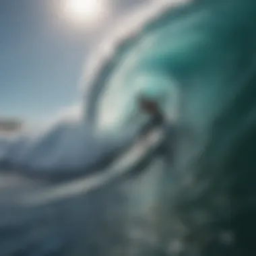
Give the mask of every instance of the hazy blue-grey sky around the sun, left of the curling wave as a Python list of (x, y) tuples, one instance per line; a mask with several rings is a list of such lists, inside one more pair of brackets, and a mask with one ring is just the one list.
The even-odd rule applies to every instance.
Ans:
[(86, 57), (121, 15), (147, 0), (105, 0), (109, 15), (90, 26), (63, 15), (61, 1), (0, 1), (0, 118), (42, 123), (81, 101)]

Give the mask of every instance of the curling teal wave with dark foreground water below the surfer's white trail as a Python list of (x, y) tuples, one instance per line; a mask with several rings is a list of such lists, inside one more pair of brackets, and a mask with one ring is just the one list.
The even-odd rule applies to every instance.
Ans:
[(256, 3), (167, 2), (90, 63), (85, 115), (119, 135), (153, 97), (164, 150), (108, 182), (1, 185), (1, 255), (255, 255)]

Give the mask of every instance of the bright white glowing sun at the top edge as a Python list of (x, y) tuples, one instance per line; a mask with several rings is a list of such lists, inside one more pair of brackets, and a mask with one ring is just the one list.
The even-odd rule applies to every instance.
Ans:
[(65, 19), (77, 24), (95, 24), (106, 16), (104, 0), (64, 0)]

